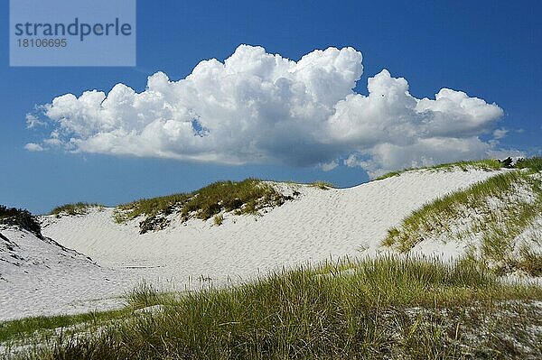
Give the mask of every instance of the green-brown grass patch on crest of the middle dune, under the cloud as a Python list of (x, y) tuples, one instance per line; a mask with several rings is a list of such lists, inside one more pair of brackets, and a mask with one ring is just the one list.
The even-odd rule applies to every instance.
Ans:
[(182, 221), (192, 217), (207, 220), (221, 212), (256, 214), (261, 208), (282, 205), (285, 199), (273, 186), (261, 180), (219, 181), (188, 194), (145, 198), (121, 205), (115, 211), (115, 220), (123, 223), (145, 216), (144, 223), (148, 224), (175, 212), (180, 213)]

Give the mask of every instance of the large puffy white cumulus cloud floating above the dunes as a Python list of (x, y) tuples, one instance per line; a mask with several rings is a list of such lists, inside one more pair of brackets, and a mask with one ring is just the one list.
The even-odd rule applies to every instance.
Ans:
[(369, 78), (362, 95), (353, 90), (362, 71), (353, 48), (317, 50), (294, 61), (241, 45), (223, 62), (203, 60), (177, 81), (157, 72), (139, 93), (117, 84), (107, 94), (55, 97), (38, 106), (53, 129), (43, 145), (324, 170), (346, 158), (373, 174), (495, 150), (478, 136), (491, 134), (503, 114), (499, 106), (448, 88), (419, 99), (405, 78), (386, 69)]

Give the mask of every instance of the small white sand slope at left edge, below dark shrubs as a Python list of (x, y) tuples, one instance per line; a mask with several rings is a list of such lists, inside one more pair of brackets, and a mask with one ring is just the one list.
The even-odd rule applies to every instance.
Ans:
[(111, 299), (125, 286), (115, 276), (51, 239), (0, 229), (0, 320), (121, 306)]

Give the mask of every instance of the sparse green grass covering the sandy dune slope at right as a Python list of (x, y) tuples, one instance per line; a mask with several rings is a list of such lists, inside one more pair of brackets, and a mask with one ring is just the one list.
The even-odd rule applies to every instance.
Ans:
[[(519, 191), (528, 190), (533, 198), (521, 198)], [(490, 205), (490, 203), (499, 205)], [(468, 226), (457, 232), (453, 224), (469, 215)], [(383, 245), (408, 252), (425, 239), (443, 234), (464, 241), (469, 236), (481, 238), (480, 258), (485, 266), (498, 272), (518, 269), (535, 274), (542, 263), (540, 257), (514, 254), (515, 239), (536, 217), (542, 215), (542, 186), (540, 180), (526, 172), (510, 171), (437, 198), (406, 217), (400, 226), (388, 230)], [(459, 226), (459, 225), (458, 225)], [(523, 252), (523, 254), (527, 254)], [(521, 265), (526, 263), (526, 265)], [(529, 265), (527, 265), (529, 264)]]

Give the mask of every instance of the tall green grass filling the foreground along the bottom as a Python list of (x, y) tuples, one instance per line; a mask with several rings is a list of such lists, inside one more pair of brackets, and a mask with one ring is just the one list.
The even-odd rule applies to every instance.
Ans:
[[(325, 271), (322, 271), (325, 269)], [(92, 334), (51, 337), (14, 358), (540, 358), (542, 289), (469, 263), (380, 258), (326, 264), (162, 303)]]

